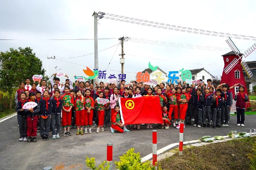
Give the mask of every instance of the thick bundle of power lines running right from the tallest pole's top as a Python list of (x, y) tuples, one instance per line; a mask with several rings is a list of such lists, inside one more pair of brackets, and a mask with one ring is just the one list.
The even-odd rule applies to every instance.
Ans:
[(175, 25), (170, 25), (170, 24), (147, 21), (147, 20), (143, 20), (143, 19), (124, 17), (124, 16), (109, 14), (109, 13), (105, 13), (105, 15), (106, 16), (103, 16), (103, 18), (122, 21), (122, 22), (128, 22), (128, 23), (132, 23), (132, 24), (144, 25), (144, 26), (152, 26), (152, 27), (157, 27), (157, 28), (164, 28), (164, 29), (170, 29), (170, 30), (175, 30), (175, 31), (196, 33), (196, 34), (203, 34), (203, 35), (230, 37), (230, 38), (244, 39), (244, 40), (256, 40), (256, 37), (253, 37), (253, 36), (221, 33), (221, 32), (207, 31), (207, 30), (189, 28), (189, 27), (183, 27), (183, 26), (175, 26)]

